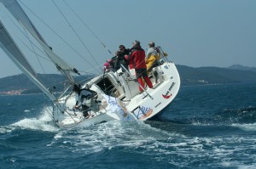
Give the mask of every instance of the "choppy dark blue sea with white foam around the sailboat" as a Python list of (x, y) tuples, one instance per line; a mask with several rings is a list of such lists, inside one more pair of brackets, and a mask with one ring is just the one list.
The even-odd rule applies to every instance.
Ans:
[(0, 168), (256, 168), (256, 84), (181, 87), (151, 121), (61, 130), (44, 95), (0, 96)]

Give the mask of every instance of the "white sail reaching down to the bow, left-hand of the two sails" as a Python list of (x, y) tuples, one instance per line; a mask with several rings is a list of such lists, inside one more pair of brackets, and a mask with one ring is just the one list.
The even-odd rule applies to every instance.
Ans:
[(0, 47), (3, 51), (13, 60), (20, 70), (44, 92), (50, 100), (54, 101), (55, 96), (49, 93), (49, 90), (44, 87), (42, 82), (38, 81), (37, 73), (32, 69), (32, 66), (26, 60), (25, 56), (21, 53), (20, 48), (16, 45), (9, 32), (5, 29), (2, 21), (0, 20)]

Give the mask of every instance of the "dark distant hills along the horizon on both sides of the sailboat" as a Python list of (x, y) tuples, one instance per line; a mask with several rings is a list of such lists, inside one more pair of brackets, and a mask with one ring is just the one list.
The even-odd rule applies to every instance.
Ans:
[[(207, 85), (224, 83), (250, 83), (256, 82), (256, 68), (242, 65), (232, 65), (228, 68), (199, 67), (193, 68), (186, 65), (177, 65), (177, 70), (181, 77), (181, 85)], [(40, 79), (47, 87), (59, 84), (58, 89), (63, 88), (64, 79), (56, 74), (39, 74)], [(28, 78), (23, 75), (7, 76), (0, 78), (0, 94), (19, 93), (40, 93)]]

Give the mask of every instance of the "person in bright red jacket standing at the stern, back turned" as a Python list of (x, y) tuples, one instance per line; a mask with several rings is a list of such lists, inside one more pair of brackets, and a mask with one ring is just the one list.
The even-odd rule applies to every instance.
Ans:
[[(137, 76), (137, 82), (139, 82), (139, 90), (143, 92), (145, 87), (144, 81), (147, 83), (149, 88), (152, 88), (152, 82), (150, 81), (147, 74), (147, 65), (145, 62), (145, 51), (141, 48), (141, 43), (135, 41), (132, 43), (131, 54), (128, 56), (130, 69), (134, 68)], [(142, 88), (143, 87), (143, 88)]]

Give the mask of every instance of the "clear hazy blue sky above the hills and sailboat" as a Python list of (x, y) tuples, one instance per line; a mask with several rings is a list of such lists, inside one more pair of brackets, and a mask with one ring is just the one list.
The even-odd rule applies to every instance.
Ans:
[[(255, 0), (65, 0), (93, 33), (77, 24), (78, 18), (62, 0), (18, 2), (55, 53), (78, 70), (90, 69), (88, 62), (101, 66), (112, 57), (106, 48), (114, 54), (120, 44), (131, 48), (135, 40), (145, 50), (148, 42), (154, 41), (177, 65), (256, 67)], [(8, 20), (4, 14), (1, 10), (1, 18)], [(38, 18), (77, 48), (83, 58), (75, 56)], [(0, 57), (0, 78), (21, 73), (2, 49)], [(31, 62), (40, 67), (38, 59)], [(38, 72), (55, 73), (55, 69)]]

